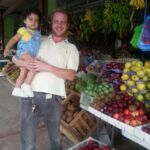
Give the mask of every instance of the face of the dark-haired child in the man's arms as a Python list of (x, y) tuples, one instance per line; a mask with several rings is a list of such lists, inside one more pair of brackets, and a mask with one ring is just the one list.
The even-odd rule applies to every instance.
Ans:
[(27, 18), (24, 20), (24, 23), (27, 28), (35, 30), (39, 26), (39, 17), (38, 15), (31, 13), (31, 15), (27, 16)]

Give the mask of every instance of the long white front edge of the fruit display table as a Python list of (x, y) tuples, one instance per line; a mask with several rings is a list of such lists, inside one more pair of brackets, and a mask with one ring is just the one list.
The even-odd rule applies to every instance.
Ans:
[(95, 115), (96, 117), (102, 119), (103, 121), (120, 129), (123, 136), (127, 137), (128, 139), (131, 139), (132, 141), (150, 150), (150, 134), (147, 134), (144, 131), (142, 131), (139, 126), (138, 127), (129, 126), (108, 115), (105, 115), (104, 113), (92, 108), (91, 106), (87, 105), (85, 106), (82, 103), (80, 104), (80, 107), (90, 112), (91, 114)]

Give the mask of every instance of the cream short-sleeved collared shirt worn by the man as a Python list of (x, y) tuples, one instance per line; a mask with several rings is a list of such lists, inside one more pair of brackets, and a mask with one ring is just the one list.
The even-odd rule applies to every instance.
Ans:
[[(77, 71), (79, 65), (79, 52), (74, 44), (64, 40), (55, 43), (51, 35), (41, 43), (38, 56), (48, 64), (62, 69)], [(50, 73), (39, 72), (32, 81), (35, 92), (44, 92), (66, 97), (65, 80)]]

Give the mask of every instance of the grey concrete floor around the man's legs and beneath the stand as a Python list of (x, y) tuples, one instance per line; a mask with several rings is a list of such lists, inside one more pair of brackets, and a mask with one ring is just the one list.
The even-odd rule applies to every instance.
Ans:
[[(0, 150), (19, 150), (19, 99), (11, 96), (13, 85), (0, 77)], [(63, 150), (73, 143), (63, 135)], [(114, 146), (117, 150), (146, 150), (124, 138), (116, 131)], [(47, 130), (40, 125), (37, 133), (37, 150), (49, 150)]]

